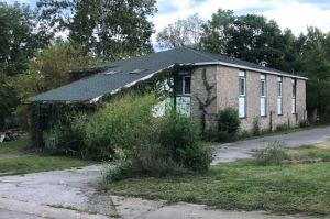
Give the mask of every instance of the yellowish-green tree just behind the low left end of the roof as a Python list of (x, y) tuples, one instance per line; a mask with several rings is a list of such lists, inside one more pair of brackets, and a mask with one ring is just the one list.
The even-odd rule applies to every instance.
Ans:
[(68, 70), (94, 65), (95, 58), (85, 55), (77, 44), (62, 42), (40, 51), (29, 63), (25, 74), (11, 77), (21, 100), (59, 87), (69, 81)]

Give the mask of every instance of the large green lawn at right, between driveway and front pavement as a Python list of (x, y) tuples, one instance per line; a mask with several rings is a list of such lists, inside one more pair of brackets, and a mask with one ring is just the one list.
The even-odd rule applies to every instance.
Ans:
[[(330, 156), (330, 147), (304, 147), (289, 153), (295, 153), (296, 158), (315, 158)], [(222, 209), (330, 216), (330, 162), (261, 166), (248, 160), (219, 164), (201, 175), (125, 179), (107, 189), (116, 195)]]

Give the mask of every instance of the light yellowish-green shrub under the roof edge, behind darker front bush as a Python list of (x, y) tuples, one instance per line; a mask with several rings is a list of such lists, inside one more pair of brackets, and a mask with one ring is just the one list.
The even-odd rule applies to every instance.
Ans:
[(156, 103), (154, 95), (124, 97), (107, 103), (105, 109), (90, 118), (86, 128), (86, 142), (89, 147), (98, 149), (101, 154), (121, 147), (130, 151), (141, 142), (136, 134), (141, 125), (152, 122), (152, 109)]

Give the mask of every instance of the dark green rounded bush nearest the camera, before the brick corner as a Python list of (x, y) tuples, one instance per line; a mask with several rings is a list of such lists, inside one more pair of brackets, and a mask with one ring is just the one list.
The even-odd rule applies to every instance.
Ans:
[[(141, 124), (135, 134), (141, 141), (127, 157), (134, 166), (130, 177), (135, 176), (136, 169), (139, 175), (166, 176), (209, 168), (211, 155), (200, 144), (199, 129), (190, 118), (170, 112)], [(106, 176), (108, 183), (116, 180), (118, 173), (130, 172), (121, 163), (111, 169)]]

